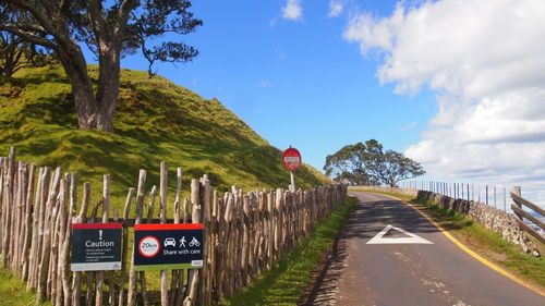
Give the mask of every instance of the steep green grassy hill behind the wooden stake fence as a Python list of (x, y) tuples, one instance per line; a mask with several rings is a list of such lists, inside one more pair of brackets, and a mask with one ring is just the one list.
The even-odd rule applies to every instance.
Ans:
[[(94, 81), (97, 66), (89, 66)], [(22, 70), (0, 84), (0, 156), (17, 147), (20, 160), (78, 172), (81, 182), (101, 189), (111, 174), (112, 199), (136, 186), (140, 169), (148, 170), (148, 186), (157, 184), (159, 162), (169, 162), (169, 187), (182, 167), (184, 188), (207, 173), (213, 186), (244, 189), (287, 187), (289, 173), (281, 151), (271, 147), (217, 99), (145, 72), (122, 70), (116, 133), (80, 131), (71, 87), (60, 66)], [(310, 166), (295, 172), (298, 186), (330, 181)]]

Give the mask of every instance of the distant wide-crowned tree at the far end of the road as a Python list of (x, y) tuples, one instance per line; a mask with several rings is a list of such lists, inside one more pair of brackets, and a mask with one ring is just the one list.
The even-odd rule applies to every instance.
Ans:
[(425, 173), (420, 163), (400, 152), (384, 151), (383, 145), (375, 139), (348, 145), (328, 155), (324, 170), (334, 180), (348, 181), (352, 185), (383, 183), (390, 187), (401, 180)]

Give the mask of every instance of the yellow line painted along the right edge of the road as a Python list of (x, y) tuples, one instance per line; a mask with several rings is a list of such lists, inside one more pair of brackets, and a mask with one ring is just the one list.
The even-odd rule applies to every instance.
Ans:
[(488, 268), (493, 269), (494, 271), (500, 273), (500, 274), (504, 274), (505, 277), (507, 277), (508, 279), (517, 282), (518, 284), (520, 285), (523, 285), (530, 290), (532, 290), (533, 292), (537, 293), (537, 294), (541, 294), (542, 296), (545, 296), (545, 291), (543, 291), (541, 287), (532, 284), (532, 283), (529, 283), (524, 280), (521, 280), (520, 278), (509, 273), (508, 271), (501, 269), (500, 267), (496, 266), (495, 264), (488, 261), (487, 259), (485, 259), (484, 257), (482, 257), (481, 255), (476, 254), (475, 252), (471, 250), (469, 247), (467, 247), (465, 245), (463, 245), (461, 242), (459, 242), (456, 237), (453, 237), (447, 230), (445, 230), (439, 223), (435, 222), (429, 216), (427, 216), (427, 213), (425, 213), (424, 211), (420, 210), (419, 208), (416, 208), (415, 206), (413, 206), (412, 204), (405, 201), (405, 200), (402, 200), (402, 199), (399, 199), (397, 197), (392, 197), (392, 198), (396, 198), (404, 204), (407, 204), (409, 207), (411, 207), (412, 209), (416, 210), (422, 217), (426, 218), (427, 221), (429, 221), (432, 224), (434, 224), (447, 238), (449, 238), (451, 242), (453, 242), (459, 248), (461, 248), (463, 252), (468, 253), (469, 255), (471, 255), (473, 258), (475, 258), (476, 260), (481, 261), (482, 264), (484, 264), (485, 266), (487, 266)]

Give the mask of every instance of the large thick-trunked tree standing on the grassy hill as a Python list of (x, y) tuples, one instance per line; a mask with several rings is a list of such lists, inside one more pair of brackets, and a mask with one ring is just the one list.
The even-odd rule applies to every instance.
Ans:
[[(185, 62), (198, 53), (181, 41), (153, 44), (202, 25), (190, 7), (184, 0), (0, 0), (0, 30), (51, 50), (72, 85), (78, 127), (111, 132), (124, 54), (141, 50), (153, 74), (155, 61)], [(7, 17), (19, 12), (23, 17)], [(82, 42), (98, 60), (96, 89)]]

